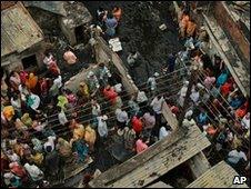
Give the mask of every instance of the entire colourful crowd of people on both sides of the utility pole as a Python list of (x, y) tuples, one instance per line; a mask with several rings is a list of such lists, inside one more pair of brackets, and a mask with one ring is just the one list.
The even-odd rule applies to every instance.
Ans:
[[(121, 9), (114, 8), (110, 13), (100, 8), (97, 14), (101, 30), (114, 36)], [(199, 68), (183, 126), (198, 125), (228, 163), (248, 173), (249, 100), (241, 94), (221, 58), (208, 53), (209, 38), (205, 31), (198, 30), (188, 11), (182, 14), (180, 30), (187, 39), (184, 50), (167, 57), (167, 74), (175, 70), (179, 61)], [(135, 54), (128, 61), (134, 61)], [(63, 59), (69, 64), (77, 61), (70, 50)], [(179, 117), (189, 84), (184, 81), (178, 100), (170, 100), (158, 92), (160, 74), (155, 72), (145, 81), (145, 89), (127, 93), (121, 80), (101, 62), (73, 92), (66, 87), (50, 51), (44, 52), (43, 62), (49, 77), (24, 70), (1, 74), (2, 187), (46, 187), (52, 178), (63, 182), (67, 165), (87, 163), (97, 141), (107, 143), (113, 135), (123, 139), (124, 149), (141, 153), (172, 133), (162, 119), (162, 106), (167, 102)]]

